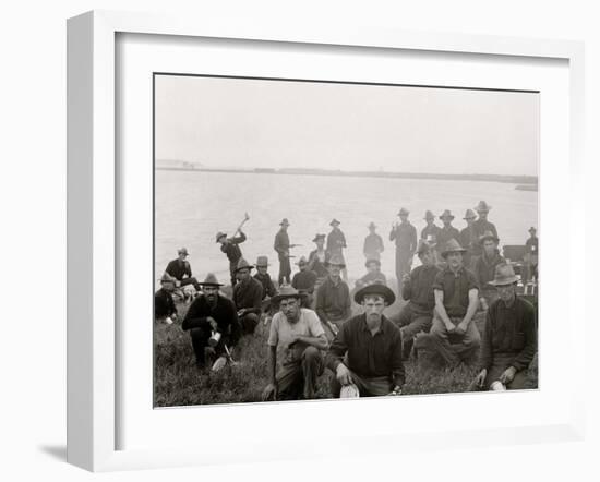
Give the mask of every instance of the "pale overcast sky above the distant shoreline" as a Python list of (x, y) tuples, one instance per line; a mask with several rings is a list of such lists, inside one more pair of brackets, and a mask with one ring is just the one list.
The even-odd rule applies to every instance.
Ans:
[(538, 94), (171, 75), (155, 92), (157, 160), (538, 173)]

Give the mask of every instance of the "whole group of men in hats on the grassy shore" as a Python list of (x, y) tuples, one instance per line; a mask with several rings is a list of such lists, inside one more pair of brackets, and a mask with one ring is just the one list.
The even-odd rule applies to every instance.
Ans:
[[(215, 275), (203, 282), (193, 278), (185, 261), (189, 253), (180, 250), (161, 278), (156, 315), (177, 316), (168, 299), (183, 282), (201, 290), (181, 325), (190, 330), (201, 367), (207, 353), (213, 360), (230, 359), (240, 336), (253, 334), (265, 316), (265, 323), (271, 321), (271, 383), (265, 399), (317, 396), (316, 379), (326, 367), (334, 374), (334, 397), (400, 394), (404, 362), (421, 350), (436, 354), (451, 367), (478, 361), (481, 371), (471, 389), (523, 388), (537, 357), (536, 311), (516, 293), (518, 277), (500, 255), (496, 228), (488, 220), (490, 208), (481, 201), (475, 207), (479, 217), (467, 209), (463, 231), (452, 226), (449, 210), (440, 216), (443, 227), (434, 224), (428, 210), (420, 240), (408, 221), (409, 212), (399, 210), (400, 222), (393, 225), (389, 240), (396, 244), (397, 286), (407, 303), (389, 317), (383, 311), (396, 297), (381, 273), (384, 244), (374, 224), (369, 226), (363, 246), (368, 273), (357, 280), (353, 292), (362, 313), (352, 315), (343, 251), (346, 239), (337, 219), (331, 222), (329, 236), (314, 237), (316, 249), (308, 258), (299, 258), (293, 277), (290, 224), (281, 220), (274, 242), (279, 261), (277, 288), (267, 270), (267, 256), (259, 256), (255, 266), (243, 258), (239, 244), (245, 234), (239, 231), (227, 238), (217, 233), (216, 241), (230, 263), (231, 299), (219, 296), (223, 285)], [(527, 254), (537, 276), (535, 228), (530, 233)], [(411, 269), (415, 254), (421, 264)], [(252, 276), (254, 267), (257, 273)], [(482, 336), (475, 323), (478, 310), (485, 312)]]

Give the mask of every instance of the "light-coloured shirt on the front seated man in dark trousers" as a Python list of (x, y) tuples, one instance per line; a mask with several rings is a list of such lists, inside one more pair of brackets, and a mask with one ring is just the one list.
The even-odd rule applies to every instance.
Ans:
[(296, 357), (303, 351), (299, 350), (299, 348), (305, 348), (305, 346), (303, 346), (292, 347), (290, 349), (289, 345), (293, 341), (295, 337), (309, 336), (316, 338), (321, 335), (325, 335), (325, 330), (316, 313), (307, 308), (301, 308), (300, 318), (296, 323), (289, 323), (286, 315), (281, 312), (273, 316), (267, 344), (272, 347), (277, 347), (277, 352), (281, 354), (281, 360), (285, 363), (295, 361)]

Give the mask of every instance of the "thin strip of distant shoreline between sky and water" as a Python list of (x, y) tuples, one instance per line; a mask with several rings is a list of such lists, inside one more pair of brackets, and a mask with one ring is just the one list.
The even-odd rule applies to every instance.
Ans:
[[(237, 172), (245, 174), (291, 174), (291, 176), (335, 176), (344, 178), (397, 178), (397, 179), (436, 179), (446, 181), (488, 181), (506, 182), (512, 184), (535, 184), (537, 188), (538, 178), (536, 176), (502, 176), (502, 174), (432, 174), (424, 172), (385, 172), (385, 171), (341, 171), (327, 169), (207, 169), (201, 167), (169, 167), (159, 166), (156, 170), (165, 171), (187, 171), (187, 172)], [(521, 188), (523, 189), (523, 188)]]

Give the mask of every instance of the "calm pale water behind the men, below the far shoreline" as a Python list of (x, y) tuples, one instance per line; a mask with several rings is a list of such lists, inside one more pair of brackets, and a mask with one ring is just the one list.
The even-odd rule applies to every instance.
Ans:
[[(529, 227), (538, 225), (538, 193), (516, 191), (508, 183), (157, 170), (156, 278), (185, 246), (194, 276), (202, 280), (213, 272), (227, 282), (229, 262), (215, 234), (223, 230), (231, 236), (244, 212), (250, 220), (243, 228), (248, 240), (240, 245), (243, 256), (254, 264), (256, 256), (267, 255), (272, 277), (278, 272), (273, 241), (281, 218), (291, 224), (290, 242), (303, 244), (292, 250), (296, 262), (314, 249), (311, 240), (316, 232), (329, 232), (335, 217), (348, 243), (349, 277), (364, 273), (362, 243), (367, 226), (374, 221), (385, 243), (382, 272), (393, 278), (395, 248), (387, 240), (400, 206), (410, 210), (409, 220), (420, 234), (425, 209), (436, 216), (451, 209), (456, 216), (453, 226), (460, 230), (465, 210), (480, 200), (492, 205), (489, 219), (496, 225), (501, 245), (524, 244)], [(436, 224), (441, 226), (437, 219)]]

